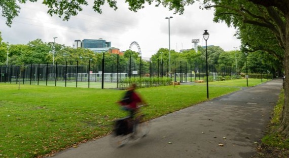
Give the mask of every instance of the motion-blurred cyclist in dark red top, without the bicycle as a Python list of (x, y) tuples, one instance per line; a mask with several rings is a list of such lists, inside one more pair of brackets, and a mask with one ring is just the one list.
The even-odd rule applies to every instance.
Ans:
[(130, 87), (125, 92), (125, 96), (121, 101), (119, 101), (119, 104), (122, 105), (122, 109), (125, 111), (128, 111), (130, 113), (130, 117), (134, 117), (134, 115), (137, 113), (137, 104), (142, 103), (146, 104), (144, 102), (138, 93), (135, 92), (136, 84), (133, 83), (130, 85)]

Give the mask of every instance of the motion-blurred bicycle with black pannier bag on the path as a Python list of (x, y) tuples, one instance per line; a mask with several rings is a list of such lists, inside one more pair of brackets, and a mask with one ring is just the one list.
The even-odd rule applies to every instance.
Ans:
[[(145, 105), (140, 105), (138, 108), (142, 106)], [(111, 145), (122, 147), (130, 140), (146, 137), (150, 131), (151, 122), (145, 121), (144, 116), (145, 114), (138, 109), (135, 119), (127, 116), (115, 120), (111, 133)]]

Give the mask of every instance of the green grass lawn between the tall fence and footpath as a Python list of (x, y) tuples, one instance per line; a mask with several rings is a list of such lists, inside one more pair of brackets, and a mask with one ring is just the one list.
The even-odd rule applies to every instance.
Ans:
[[(240, 89), (226, 85), (209, 87), (210, 99)], [(206, 86), (198, 84), (137, 91), (150, 104), (143, 109), (147, 119), (206, 100)], [(123, 93), (37, 85), (18, 90), (17, 84), (0, 83), (0, 157), (41, 156), (107, 135), (112, 120), (126, 115), (115, 103)]]

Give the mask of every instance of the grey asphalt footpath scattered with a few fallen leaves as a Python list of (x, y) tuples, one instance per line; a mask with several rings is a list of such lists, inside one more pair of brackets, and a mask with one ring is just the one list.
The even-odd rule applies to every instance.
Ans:
[(281, 87), (282, 80), (274, 79), (156, 118), (147, 137), (121, 148), (106, 136), (53, 157), (250, 157), (266, 133)]

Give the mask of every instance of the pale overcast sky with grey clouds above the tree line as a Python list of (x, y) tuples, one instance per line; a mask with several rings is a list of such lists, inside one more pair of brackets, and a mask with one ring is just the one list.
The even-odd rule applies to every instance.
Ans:
[[(89, 2), (92, 4), (92, 0)], [(75, 40), (102, 38), (111, 42), (112, 47), (122, 51), (129, 49), (135, 41), (139, 44), (142, 56), (151, 57), (159, 48), (168, 48), (168, 19), (170, 19), (170, 48), (176, 51), (193, 48), (192, 39), (200, 39), (199, 45), (204, 46), (202, 34), (208, 29), (210, 37), (208, 45), (220, 46), (225, 51), (235, 50), (240, 40), (234, 37), (235, 29), (225, 23), (214, 23), (213, 11), (200, 10), (199, 4), (185, 8), (183, 15), (173, 14), (164, 7), (146, 5), (138, 12), (128, 9), (124, 0), (118, 1), (118, 10), (114, 11), (107, 5), (102, 7), (102, 14), (92, 10), (92, 5), (83, 7), (83, 11), (69, 21), (47, 14), (47, 7), (41, 3), (21, 5), (18, 17), (11, 27), (0, 17), (3, 42), (9, 44), (27, 44), (35, 39), (44, 42), (55, 42), (65, 46), (73, 46)], [(136, 46), (132, 50), (137, 51)]]

